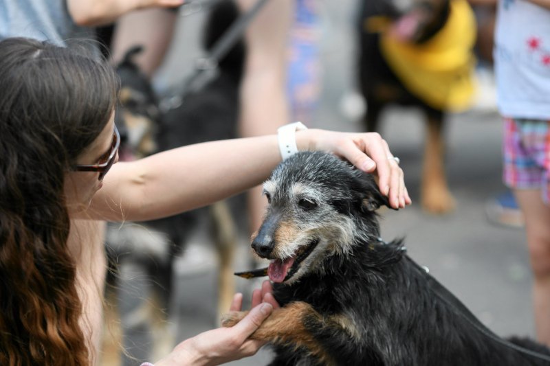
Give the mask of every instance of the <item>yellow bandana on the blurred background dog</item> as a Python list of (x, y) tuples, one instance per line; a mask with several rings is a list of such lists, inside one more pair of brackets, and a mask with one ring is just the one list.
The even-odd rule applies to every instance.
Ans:
[(447, 22), (425, 43), (399, 41), (389, 32), (380, 36), (384, 58), (407, 89), (445, 111), (463, 111), (472, 102), (475, 40), (476, 21), (466, 0), (450, 0)]

